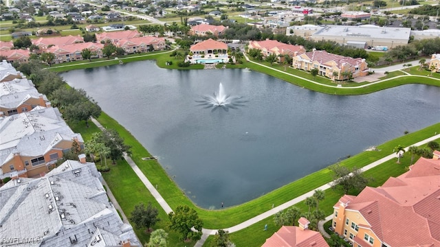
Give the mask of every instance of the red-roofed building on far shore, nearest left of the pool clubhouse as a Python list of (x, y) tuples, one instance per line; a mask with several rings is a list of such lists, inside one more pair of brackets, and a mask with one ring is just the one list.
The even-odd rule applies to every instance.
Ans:
[(135, 38), (122, 38), (115, 45), (124, 49), (126, 54), (163, 50), (166, 47), (165, 38), (155, 36), (142, 36)]

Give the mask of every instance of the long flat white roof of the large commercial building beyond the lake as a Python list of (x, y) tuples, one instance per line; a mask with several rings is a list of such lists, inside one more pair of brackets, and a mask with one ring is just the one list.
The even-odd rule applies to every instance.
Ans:
[(315, 32), (314, 36), (342, 36), (347, 39), (360, 38), (384, 38), (408, 40), (410, 38), (410, 28), (406, 27), (378, 27), (375, 25), (344, 26), (326, 25), (321, 30)]

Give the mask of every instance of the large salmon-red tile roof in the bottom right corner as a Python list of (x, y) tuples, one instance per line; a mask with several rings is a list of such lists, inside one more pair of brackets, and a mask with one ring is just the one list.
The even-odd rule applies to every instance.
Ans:
[(346, 209), (359, 211), (366, 227), (389, 246), (440, 246), (439, 165), (440, 160), (420, 158), (382, 187), (366, 187)]

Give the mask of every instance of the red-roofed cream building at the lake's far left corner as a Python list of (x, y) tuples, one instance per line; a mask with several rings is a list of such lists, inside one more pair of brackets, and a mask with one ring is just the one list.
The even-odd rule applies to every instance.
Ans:
[(104, 48), (104, 45), (101, 43), (87, 42), (69, 45), (54, 45), (45, 51), (55, 55), (55, 63), (61, 63), (83, 60), (83, 55), (81, 54), (83, 49), (89, 49), (92, 52), (93, 55), (91, 58), (102, 58), (102, 48)]

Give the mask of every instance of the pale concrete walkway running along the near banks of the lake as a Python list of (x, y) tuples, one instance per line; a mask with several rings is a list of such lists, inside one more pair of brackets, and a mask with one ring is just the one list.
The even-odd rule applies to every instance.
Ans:
[[(101, 130), (104, 129), (104, 127), (102, 127), (102, 125), (96, 120), (96, 119), (91, 119), (91, 121), (94, 122), (94, 124), (96, 124), (96, 126), (98, 126), (98, 128), (100, 128)], [(419, 146), (419, 145), (423, 145), (425, 143), (428, 143), (429, 141), (434, 141), (436, 139), (440, 139), (440, 134), (437, 134), (437, 132), (430, 138), (428, 139), (424, 139), (423, 141), (419, 141), (417, 143), (414, 143), (412, 145), (415, 146)], [(408, 147), (405, 148), (406, 151), (408, 151)], [(146, 176), (142, 173), (142, 171), (139, 169), (139, 167), (137, 167), (137, 165), (133, 162), (133, 160), (127, 156), (126, 154), (124, 154), (124, 158), (126, 159), (126, 161), (129, 163), (129, 165), (131, 166), (131, 168), (135, 171), (136, 175), (140, 178), (140, 180), (142, 180), (142, 183), (144, 183), (144, 185), (146, 186), (146, 188), (151, 192), (151, 194), (155, 197), (155, 199), (157, 200), (157, 202), (159, 202), (160, 206), (162, 207), (162, 209), (164, 209), (164, 211), (166, 213), (170, 213), (173, 211), (173, 209), (171, 209), (171, 207), (168, 205), (168, 203), (166, 203), (166, 201), (164, 200), (164, 198), (162, 198), (162, 196), (159, 194), (159, 192), (157, 192), (157, 189), (155, 189), (155, 187), (150, 183), (150, 181), (148, 180), (148, 178), (146, 178)], [(393, 153), (393, 154), (389, 154), (388, 156), (381, 158), (380, 160), (377, 160), (369, 165), (366, 165), (364, 167), (362, 167), (360, 170), (362, 172), (365, 172), (369, 169), (372, 169), (373, 167), (376, 167), (377, 165), (380, 165), (386, 161), (389, 161), (393, 158), (397, 158), (397, 154)], [(316, 189), (320, 189), (322, 191), (331, 188), (333, 182), (331, 183), (327, 183), (325, 185), (322, 185)], [(255, 224), (257, 222), (260, 222), (261, 220), (265, 220), (267, 217), (270, 217), (272, 215), (274, 215), (275, 213), (278, 213), (279, 211), (282, 211), (284, 209), (287, 209), (289, 207), (292, 207), (294, 204), (297, 204), (298, 202), (301, 202), (303, 200), (305, 200), (308, 197), (313, 196), (314, 191), (316, 189), (313, 189), (307, 193), (304, 193), (301, 196), (298, 196), (296, 198), (293, 198), (292, 200), (289, 200), (288, 202), (285, 202), (277, 207), (274, 207), (273, 209), (270, 209), (269, 211), (265, 211), (264, 213), (261, 213), (259, 215), (256, 215), (255, 217), (250, 218), (249, 220), (246, 220), (244, 222), (241, 222), (240, 224), (237, 224), (235, 226), (231, 226), (228, 228), (224, 228), (223, 230), (228, 231), (229, 233), (234, 233), (236, 231), (240, 231), (243, 230), (244, 228), (247, 228), (248, 226), (251, 226), (252, 224)], [(121, 212), (122, 213), (122, 212)], [(329, 215), (326, 217), (331, 219), (332, 215)], [(324, 224), (324, 222), (322, 223)], [(322, 228), (322, 231), (324, 229)], [(202, 237), (201, 239), (195, 244), (195, 247), (201, 247), (203, 246), (203, 243), (206, 241), (206, 239), (208, 238), (209, 235), (214, 235), (215, 233), (217, 233), (218, 229), (206, 229), (203, 228), (202, 230)], [(325, 233), (325, 231), (322, 232), (323, 235), (327, 234)]]

